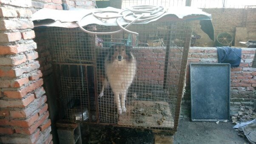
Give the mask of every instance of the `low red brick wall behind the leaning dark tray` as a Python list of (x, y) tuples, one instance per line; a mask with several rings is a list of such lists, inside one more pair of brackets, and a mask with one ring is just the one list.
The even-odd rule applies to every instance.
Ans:
[[(239, 105), (253, 106), (256, 99), (256, 68), (251, 68), (255, 48), (242, 48), (242, 60), (239, 67), (230, 72), (230, 114), (239, 111)], [(190, 47), (186, 75), (186, 93), (182, 99), (182, 116), (190, 116), (190, 63), (217, 63), (216, 47)]]

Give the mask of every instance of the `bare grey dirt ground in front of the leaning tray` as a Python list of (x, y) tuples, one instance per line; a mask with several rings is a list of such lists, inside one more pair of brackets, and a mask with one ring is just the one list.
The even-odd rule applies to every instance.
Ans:
[(238, 136), (231, 122), (179, 121), (174, 144), (247, 144), (246, 138)]

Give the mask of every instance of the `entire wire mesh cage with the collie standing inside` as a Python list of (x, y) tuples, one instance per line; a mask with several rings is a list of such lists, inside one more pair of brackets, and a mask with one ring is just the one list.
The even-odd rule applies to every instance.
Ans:
[[(86, 29), (118, 28), (89, 25)], [(191, 24), (154, 22), (129, 30), (139, 35), (48, 28), (62, 118), (176, 131)]]

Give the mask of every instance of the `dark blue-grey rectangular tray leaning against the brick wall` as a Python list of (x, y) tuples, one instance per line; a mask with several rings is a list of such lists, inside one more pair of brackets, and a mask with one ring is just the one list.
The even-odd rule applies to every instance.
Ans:
[(190, 64), (191, 120), (229, 121), (230, 64)]

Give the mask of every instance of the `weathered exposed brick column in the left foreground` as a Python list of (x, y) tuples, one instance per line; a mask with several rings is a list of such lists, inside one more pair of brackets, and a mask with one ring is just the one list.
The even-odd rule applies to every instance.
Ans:
[(52, 143), (31, 0), (0, 0), (0, 143)]

